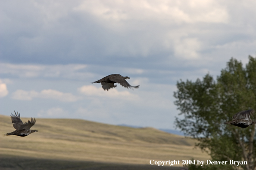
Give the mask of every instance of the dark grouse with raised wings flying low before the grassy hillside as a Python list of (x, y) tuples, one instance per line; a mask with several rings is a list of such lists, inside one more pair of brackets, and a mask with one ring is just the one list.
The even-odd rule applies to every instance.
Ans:
[(31, 118), (31, 121), (28, 120), (28, 123), (26, 122), (25, 124), (23, 124), (23, 122), (20, 120), (19, 112), (17, 112), (17, 114), (15, 112), (15, 115), (11, 114), (11, 119), (13, 127), (16, 129), (16, 131), (13, 131), (11, 133), (5, 133), (5, 136), (17, 135), (20, 137), (26, 137), (33, 132), (38, 132), (37, 130), (30, 130), (30, 127), (32, 127), (36, 122), (35, 118), (34, 120), (33, 118)]

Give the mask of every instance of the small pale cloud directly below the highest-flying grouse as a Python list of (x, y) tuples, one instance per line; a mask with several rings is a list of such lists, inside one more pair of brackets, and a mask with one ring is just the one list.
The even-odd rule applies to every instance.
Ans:
[(127, 100), (138, 99), (138, 95), (131, 94), (129, 91), (117, 91), (116, 88), (111, 88), (109, 91), (104, 91), (101, 87), (97, 88), (93, 85), (84, 85), (78, 88), (78, 91), (86, 96), (122, 98)]

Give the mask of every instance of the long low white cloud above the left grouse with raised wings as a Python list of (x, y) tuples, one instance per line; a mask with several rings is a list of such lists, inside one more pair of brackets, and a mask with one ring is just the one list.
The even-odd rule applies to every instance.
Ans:
[(42, 90), (41, 92), (17, 90), (12, 93), (12, 99), (16, 100), (32, 100), (33, 98), (55, 99), (62, 102), (75, 102), (81, 99), (81, 97), (74, 96), (71, 93), (63, 93), (52, 89)]

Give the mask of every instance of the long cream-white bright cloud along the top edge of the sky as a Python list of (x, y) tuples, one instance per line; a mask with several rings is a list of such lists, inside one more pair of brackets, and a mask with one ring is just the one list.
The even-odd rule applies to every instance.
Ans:
[(158, 20), (162, 22), (225, 23), (229, 18), (225, 7), (214, 0), (94, 0), (83, 1), (79, 6), (73, 9), (78, 12), (90, 12), (91, 15), (102, 20), (116, 22)]

